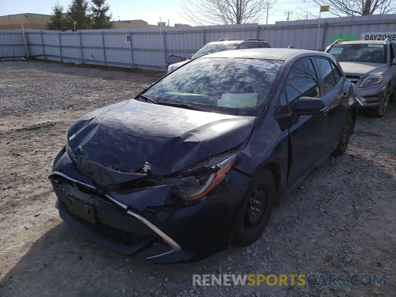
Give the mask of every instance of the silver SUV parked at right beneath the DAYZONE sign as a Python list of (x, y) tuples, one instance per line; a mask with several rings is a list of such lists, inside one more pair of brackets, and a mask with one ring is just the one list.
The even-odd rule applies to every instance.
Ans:
[(336, 40), (326, 51), (340, 63), (354, 84), (359, 109), (381, 118), (396, 91), (396, 48), (390, 39)]

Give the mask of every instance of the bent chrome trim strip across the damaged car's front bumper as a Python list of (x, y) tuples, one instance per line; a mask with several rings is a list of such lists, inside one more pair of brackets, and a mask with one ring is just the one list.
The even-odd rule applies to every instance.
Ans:
[[(82, 183), (80, 181), (77, 181), (76, 179), (72, 179), (71, 177), (68, 177), (67, 175), (59, 172), (59, 171), (52, 171), (52, 174), (57, 174), (60, 175), (62, 177), (65, 177), (65, 179), (69, 179), (69, 181), (73, 181), (74, 183), (79, 183), (80, 185), (84, 185), (86, 187), (89, 188), (95, 188), (92, 185), (88, 185), (86, 183)], [(115, 204), (117, 204), (118, 206), (121, 206), (124, 209), (128, 209), (128, 206), (122, 204), (121, 202), (115, 200), (114, 198), (110, 197), (109, 195), (105, 194), (105, 196), (107, 198), (109, 198), (112, 202), (114, 202)], [(150, 223), (150, 221), (148, 221), (147, 219), (145, 219), (144, 217), (142, 217), (141, 215), (138, 215), (137, 213), (134, 213), (133, 211), (128, 210), (127, 211), (128, 214), (132, 215), (133, 217), (137, 218), (139, 221), (141, 221), (142, 223), (144, 223), (145, 225), (147, 225), (147, 227), (149, 227), (151, 230), (153, 230), (154, 232), (156, 232), (163, 240), (165, 240), (171, 247), (172, 250), (168, 251), (166, 253), (162, 253), (160, 255), (155, 255), (155, 256), (151, 256), (151, 257), (147, 257), (146, 259), (153, 259), (153, 258), (158, 258), (158, 257), (162, 257), (165, 255), (171, 255), (174, 253), (177, 253), (181, 250), (180, 246), (174, 242), (168, 235), (166, 235), (164, 232), (162, 232), (159, 228), (157, 228), (155, 225), (153, 225), (152, 223)]]

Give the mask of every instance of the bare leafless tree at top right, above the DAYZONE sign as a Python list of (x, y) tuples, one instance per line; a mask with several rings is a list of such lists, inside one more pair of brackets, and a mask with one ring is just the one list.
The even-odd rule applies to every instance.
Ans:
[[(337, 17), (352, 15), (372, 15), (396, 13), (396, 0), (306, 0), (307, 4), (315, 6), (330, 6), (329, 12)], [(312, 13), (306, 8), (299, 8), (301, 19), (309, 15), (309, 18), (317, 18), (318, 13)]]

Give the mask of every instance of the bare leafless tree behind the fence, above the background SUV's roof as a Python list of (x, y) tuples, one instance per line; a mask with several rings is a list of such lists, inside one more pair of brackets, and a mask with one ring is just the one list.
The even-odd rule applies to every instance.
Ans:
[(184, 0), (181, 8), (194, 25), (258, 23), (276, 0)]

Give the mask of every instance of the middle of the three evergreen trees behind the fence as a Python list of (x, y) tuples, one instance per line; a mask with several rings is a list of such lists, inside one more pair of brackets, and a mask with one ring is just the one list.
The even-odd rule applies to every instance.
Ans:
[(67, 27), (69, 30), (74, 30), (74, 21), (76, 30), (91, 29), (91, 18), (88, 15), (87, 0), (72, 0), (67, 8)]

